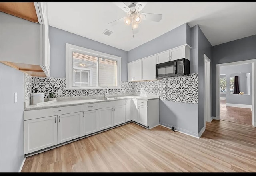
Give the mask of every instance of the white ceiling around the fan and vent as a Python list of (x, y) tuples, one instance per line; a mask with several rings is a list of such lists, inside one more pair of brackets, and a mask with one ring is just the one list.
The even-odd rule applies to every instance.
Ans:
[[(142, 20), (133, 38), (131, 25), (108, 24), (126, 16), (112, 2), (48, 2), (50, 26), (125, 51), (184, 23), (199, 24), (212, 46), (256, 34), (256, 2), (148, 2), (141, 12), (163, 17), (160, 22)], [(113, 33), (104, 35), (105, 29)]]

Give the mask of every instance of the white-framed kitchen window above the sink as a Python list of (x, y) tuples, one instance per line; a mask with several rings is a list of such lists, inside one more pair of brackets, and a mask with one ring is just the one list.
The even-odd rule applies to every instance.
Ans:
[(66, 89), (121, 87), (121, 57), (66, 43)]

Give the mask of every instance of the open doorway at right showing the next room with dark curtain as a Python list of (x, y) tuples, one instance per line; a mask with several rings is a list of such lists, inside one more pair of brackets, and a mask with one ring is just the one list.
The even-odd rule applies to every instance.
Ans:
[(255, 60), (217, 64), (217, 120), (255, 126)]

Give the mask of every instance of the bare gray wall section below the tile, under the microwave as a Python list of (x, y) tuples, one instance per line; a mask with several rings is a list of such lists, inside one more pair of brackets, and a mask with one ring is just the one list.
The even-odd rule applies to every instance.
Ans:
[(159, 121), (190, 135), (198, 134), (198, 105), (159, 100)]

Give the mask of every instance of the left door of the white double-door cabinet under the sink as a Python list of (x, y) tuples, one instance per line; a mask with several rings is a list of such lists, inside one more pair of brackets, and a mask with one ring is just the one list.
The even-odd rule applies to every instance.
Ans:
[(114, 108), (101, 108), (98, 110), (98, 130), (107, 129), (113, 127), (113, 113)]

